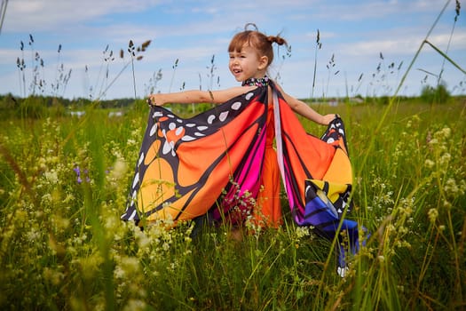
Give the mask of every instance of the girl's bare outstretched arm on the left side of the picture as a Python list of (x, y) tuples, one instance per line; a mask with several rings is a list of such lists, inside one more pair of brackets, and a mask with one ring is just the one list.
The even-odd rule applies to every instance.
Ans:
[(192, 104), (210, 102), (221, 104), (236, 96), (256, 89), (256, 86), (236, 86), (221, 91), (184, 91), (173, 93), (157, 93), (149, 95), (149, 104), (162, 106), (166, 103)]

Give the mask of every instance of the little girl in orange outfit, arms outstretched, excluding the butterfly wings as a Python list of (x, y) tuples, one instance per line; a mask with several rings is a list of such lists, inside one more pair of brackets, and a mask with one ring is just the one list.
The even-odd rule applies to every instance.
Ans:
[[(265, 123), (265, 152), (262, 160), (262, 170), (259, 177), (261, 190), (255, 198), (253, 209), (253, 221), (258, 226), (278, 227), (281, 223), (280, 208), (280, 170), (277, 155), (272, 148), (275, 136), (272, 85), (280, 92), (285, 102), (297, 114), (312, 120), (318, 124), (328, 125), (336, 115), (321, 116), (301, 100), (289, 96), (276, 83), (267, 76), (267, 70), (273, 60), (272, 44), (287, 44), (280, 36), (265, 36), (256, 30), (244, 31), (233, 36), (228, 47), (228, 68), (236, 81), (241, 82), (241, 87), (233, 87), (222, 91), (186, 91), (174, 93), (157, 93), (149, 96), (148, 102), (154, 106), (162, 106), (166, 103), (224, 103), (241, 94), (251, 92), (257, 88), (268, 88), (267, 114)], [(255, 26), (255, 25), (254, 25)], [(282, 123), (295, 120), (282, 119)]]

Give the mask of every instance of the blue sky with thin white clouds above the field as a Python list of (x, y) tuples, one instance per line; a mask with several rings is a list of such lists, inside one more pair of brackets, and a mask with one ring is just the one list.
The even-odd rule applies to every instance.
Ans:
[[(270, 75), (289, 94), (298, 98), (392, 95), (446, 3), (446, 0), (10, 0), (0, 33), (0, 94), (12, 92), (22, 96), (43, 92), (71, 99), (90, 96), (115, 99), (134, 98), (135, 85), (138, 98), (145, 97), (151, 86), (161, 92), (235, 86), (238, 83), (227, 68), (226, 48), (236, 32), (253, 22), (266, 34), (280, 33), (288, 40), (290, 54), (283, 48), (276, 52)], [(451, 1), (429, 41), (448, 51), (458, 65), (466, 68), (463, 8), (455, 25), (454, 17), (455, 1)], [(321, 48), (316, 58), (318, 29)], [(33, 36), (33, 44), (29, 44), (29, 34)], [(152, 40), (140, 54), (143, 59), (134, 62), (134, 80), (127, 52), (130, 40), (137, 46)], [(24, 51), (20, 50), (21, 41)], [(123, 59), (119, 57), (121, 49)], [(115, 60), (106, 61), (110, 51), (114, 52)], [(43, 67), (39, 66), (36, 74), (45, 82), (42, 91), (31, 87), (33, 68), (38, 64), (36, 52), (43, 59)], [(210, 75), (212, 56), (215, 56), (214, 69)], [(17, 67), (18, 58), (25, 60), (25, 83)], [(314, 60), (317, 67), (312, 87)], [(59, 83), (59, 90), (53, 90), (61, 64), (64, 73), (71, 69), (71, 76), (67, 84)], [(427, 45), (399, 93), (416, 95), (423, 85), (436, 85), (436, 76), (442, 68), (450, 92), (466, 93), (466, 76), (450, 63), (444, 63), (439, 53)], [(159, 70), (162, 79), (154, 84), (151, 78)]]

